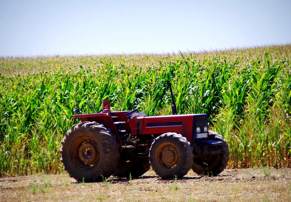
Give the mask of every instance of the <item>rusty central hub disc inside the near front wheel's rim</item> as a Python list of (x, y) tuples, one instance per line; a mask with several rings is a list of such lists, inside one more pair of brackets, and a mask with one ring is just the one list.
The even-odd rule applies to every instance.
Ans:
[(172, 168), (173, 166), (177, 165), (178, 160), (179, 152), (173, 145), (168, 145), (162, 149), (161, 162), (168, 168)]

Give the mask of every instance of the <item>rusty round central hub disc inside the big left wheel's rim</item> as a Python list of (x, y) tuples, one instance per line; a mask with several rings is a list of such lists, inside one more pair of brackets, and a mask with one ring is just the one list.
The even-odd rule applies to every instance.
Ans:
[(79, 149), (79, 157), (85, 164), (93, 165), (97, 162), (99, 152), (94, 142), (86, 142)]

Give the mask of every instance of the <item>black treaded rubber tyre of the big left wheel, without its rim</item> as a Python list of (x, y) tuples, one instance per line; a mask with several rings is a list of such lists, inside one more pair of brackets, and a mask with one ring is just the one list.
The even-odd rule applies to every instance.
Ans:
[[(99, 151), (99, 159), (97, 164), (92, 169), (89, 168), (88, 170), (80, 169), (76, 166), (75, 161), (72, 160), (73, 158), (76, 158), (76, 156), (73, 156), (71, 147), (75, 140), (83, 136), (94, 140)], [(67, 131), (64, 139), (62, 140), (61, 153), (65, 171), (68, 171), (69, 175), (77, 181), (100, 181), (103, 180), (102, 178), (110, 177), (117, 165), (117, 158), (119, 156), (118, 151), (117, 154), (113, 154), (116, 153), (116, 144), (115, 136), (110, 134), (106, 128), (102, 127), (102, 125), (91, 122), (83, 122), (73, 126)], [(112, 157), (113, 159), (110, 159)]]

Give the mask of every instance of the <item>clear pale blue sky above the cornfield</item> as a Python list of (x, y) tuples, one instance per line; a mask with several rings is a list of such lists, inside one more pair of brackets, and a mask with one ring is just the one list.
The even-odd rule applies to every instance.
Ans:
[(291, 0), (0, 0), (0, 56), (291, 43)]

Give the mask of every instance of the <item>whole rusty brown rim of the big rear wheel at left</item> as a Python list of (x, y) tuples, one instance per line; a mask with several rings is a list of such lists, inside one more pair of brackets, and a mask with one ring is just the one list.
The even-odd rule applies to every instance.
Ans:
[(100, 157), (97, 143), (87, 136), (82, 136), (73, 142), (71, 154), (72, 161), (81, 170), (93, 169)]

